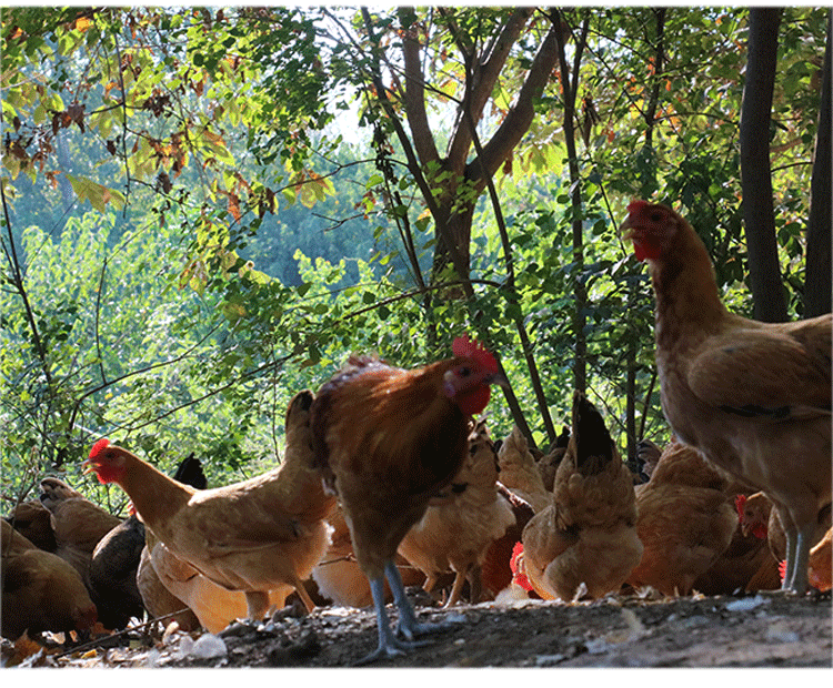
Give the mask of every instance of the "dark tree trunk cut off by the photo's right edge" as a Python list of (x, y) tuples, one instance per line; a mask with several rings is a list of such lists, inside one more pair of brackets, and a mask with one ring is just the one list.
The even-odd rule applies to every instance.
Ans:
[(815, 134), (813, 180), (810, 183), (807, 262), (804, 282), (804, 317), (831, 311), (831, 24), (827, 10), (827, 41), (824, 49), (822, 92), (819, 101), (819, 131)]

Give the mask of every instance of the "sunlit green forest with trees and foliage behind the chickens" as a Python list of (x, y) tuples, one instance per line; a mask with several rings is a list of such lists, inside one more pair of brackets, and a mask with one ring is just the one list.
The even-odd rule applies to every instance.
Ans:
[(511, 381), (494, 438), (545, 449), (580, 389), (635, 469), (669, 431), (632, 198), (689, 219), (731, 310), (830, 311), (830, 8), (31, 7), (0, 32), (9, 502), (51, 474), (123, 513), (80, 474), (101, 436), (255, 475), (349, 353), (411, 367), (463, 332)]

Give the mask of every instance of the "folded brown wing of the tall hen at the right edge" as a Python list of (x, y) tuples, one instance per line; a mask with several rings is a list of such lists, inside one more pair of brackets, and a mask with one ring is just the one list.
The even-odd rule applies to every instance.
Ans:
[(709, 337), (688, 382), (705, 403), (773, 421), (831, 412), (830, 316)]

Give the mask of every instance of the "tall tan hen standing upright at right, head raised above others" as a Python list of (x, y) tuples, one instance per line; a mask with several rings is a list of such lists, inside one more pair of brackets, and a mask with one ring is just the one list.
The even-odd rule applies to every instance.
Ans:
[(662, 409), (676, 435), (772, 499), (786, 533), (783, 589), (803, 595), (831, 498), (831, 315), (761, 323), (721, 302), (705, 245), (664, 205), (633, 201), (623, 239), (656, 300)]

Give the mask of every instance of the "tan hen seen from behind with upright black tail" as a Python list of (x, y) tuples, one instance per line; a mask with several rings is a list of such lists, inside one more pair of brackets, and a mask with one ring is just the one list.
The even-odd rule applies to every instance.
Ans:
[(526, 524), (522, 542), (522, 567), (544, 599), (569, 601), (581, 584), (591, 598), (618, 590), (642, 557), (633, 477), (602, 416), (578, 393), (552, 504)]

